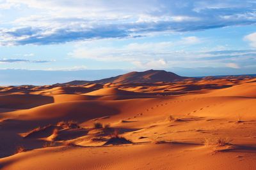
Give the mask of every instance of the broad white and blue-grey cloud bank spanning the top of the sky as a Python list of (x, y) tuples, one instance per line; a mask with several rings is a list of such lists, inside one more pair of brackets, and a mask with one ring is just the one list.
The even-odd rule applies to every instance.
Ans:
[[(1, 8), (8, 8), (17, 16), (8, 20), (8, 27), (0, 29), (0, 45), (136, 38), (152, 32), (202, 31), (256, 24), (256, 3), (238, 0), (2, 0)], [(20, 10), (24, 9), (28, 14), (22, 13), (19, 17)], [(3, 17), (7, 18), (8, 13), (3, 13)], [(186, 40), (196, 41), (193, 37)]]

